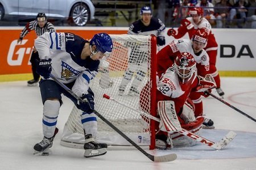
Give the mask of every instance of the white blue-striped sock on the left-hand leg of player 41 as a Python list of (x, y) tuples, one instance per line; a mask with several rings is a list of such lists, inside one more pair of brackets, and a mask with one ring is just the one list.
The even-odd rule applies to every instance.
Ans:
[(46, 100), (43, 108), (43, 134), (47, 138), (54, 135), (57, 117), (60, 111), (59, 100)]

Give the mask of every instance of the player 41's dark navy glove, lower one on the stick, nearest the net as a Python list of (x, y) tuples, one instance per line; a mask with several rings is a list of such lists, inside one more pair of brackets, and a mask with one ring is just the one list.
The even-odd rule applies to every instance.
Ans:
[(82, 95), (81, 99), (84, 102), (77, 101), (76, 107), (85, 113), (92, 113), (94, 110), (94, 96), (92, 94), (86, 94)]

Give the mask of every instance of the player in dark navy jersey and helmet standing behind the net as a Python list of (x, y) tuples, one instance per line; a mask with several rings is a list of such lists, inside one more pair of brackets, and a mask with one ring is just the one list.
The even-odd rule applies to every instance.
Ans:
[[(152, 10), (148, 6), (142, 7), (140, 13), (141, 19), (135, 21), (130, 25), (128, 34), (155, 35), (158, 46), (165, 45), (166, 40), (164, 38), (164, 30), (166, 29), (166, 26), (163, 24), (163, 22), (160, 19), (152, 17)], [(123, 95), (125, 93), (126, 86), (132, 80), (134, 73), (135, 77), (133, 79), (133, 82), (131, 83), (128, 95), (139, 95), (138, 88), (146, 75), (146, 59), (148, 58), (147, 54), (143, 54), (143, 50), (141, 50), (142, 48), (142, 45), (134, 43), (132, 48), (129, 49), (128, 67), (125, 73), (123, 74), (122, 82), (119, 86), (120, 95)], [(144, 48), (147, 48), (147, 46), (145, 46)], [(146, 59), (143, 60), (143, 58)]]

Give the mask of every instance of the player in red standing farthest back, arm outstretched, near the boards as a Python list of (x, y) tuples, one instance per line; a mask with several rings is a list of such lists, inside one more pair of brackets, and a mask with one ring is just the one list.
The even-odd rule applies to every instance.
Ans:
[(168, 36), (173, 36), (175, 39), (180, 39), (188, 32), (189, 38), (191, 39), (193, 34), (199, 28), (208, 28), (210, 30), (208, 42), (205, 46), (205, 51), (208, 53), (210, 58), (210, 74), (213, 76), (216, 82), (216, 91), (221, 97), (224, 96), (224, 92), (221, 90), (220, 75), (216, 69), (216, 58), (217, 58), (217, 48), (218, 44), (212, 33), (212, 26), (207, 19), (203, 17), (204, 11), (201, 7), (193, 7), (189, 10), (190, 17), (181, 20), (180, 27), (175, 31), (175, 29), (169, 29), (167, 32)]

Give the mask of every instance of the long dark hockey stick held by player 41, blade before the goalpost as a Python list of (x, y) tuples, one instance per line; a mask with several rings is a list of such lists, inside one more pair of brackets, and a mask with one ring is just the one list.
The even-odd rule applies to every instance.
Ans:
[[(61, 87), (63, 87), (69, 94), (71, 94), (73, 97), (75, 97), (79, 102), (84, 103), (88, 102), (87, 100), (84, 101), (82, 100), (79, 96), (77, 96), (72, 90), (70, 90), (65, 84), (61, 83), (55, 76), (53, 76), (50, 73), (50, 77), (55, 80), (57, 84), (59, 84)], [(124, 133), (122, 133), (121, 130), (119, 130), (117, 127), (115, 127), (110, 121), (106, 120), (105, 117), (103, 117), (100, 113), (97, 111), (93, 110), (93, 113), (95, 113), (98, 117), (101, 118), (102, 121), (104, 121), (106, 124), (108, 124), (112, 129), (114, 129), (119, 135), (121, 135), (123, 138), (126, 139), (126, 141), (130, 142), (131, 145), (133, 145), (135, 148), (137, 148), (139, 151), (142, 152), (142, 154), (146, 155), (147, 158), (152, 160), (153, 162), (171, 162), (174, 161), (177, 158), (176, 154), (168, 154), (168, 155), (163, 155), (163, 156), (154, 156), (151, 154), (148, 154), (146, 151), (143, 150), (140, 146), (138, 146), (135, 142), (133, 142), (129, 137), (127, 137)]]

